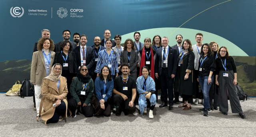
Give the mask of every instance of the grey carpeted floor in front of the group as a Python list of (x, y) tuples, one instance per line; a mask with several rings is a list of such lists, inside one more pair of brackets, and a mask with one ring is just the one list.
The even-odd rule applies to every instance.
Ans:
[[(181, 99), (180, 99), (181, 100)], [(57, 136), (57, 137), (255, 137), (256, 136), (256, 98), (241, 102), (246, 119), (238, 114), (228, 115), (218, 110), (203, 116), (199, 111), (201, 104), (192, 105), (192, 110), (168, 107), (159, 108), (158, 101), (154, 109), (154, 119), (148, 114), (141, 117), (138, 110), (134, 115), (115, 114), (110, 117), (84, 117), (77, 115), (67, 121), (44, 125), (36, 121), (32, 97), (9, 97), (0, 94), (0, 136)], [(138, 105), (136, 106), (138, 108)], [(148, 110), (149, 111), (149, 110)]]

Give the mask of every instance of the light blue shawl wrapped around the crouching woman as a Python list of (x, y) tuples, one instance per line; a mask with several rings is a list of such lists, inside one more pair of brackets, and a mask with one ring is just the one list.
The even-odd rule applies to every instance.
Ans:
[[(151, 90), (156, 90), (156, 84), (153, 80), (153, 78), (151, 78), (150, 76), (148, 76), (147, 78), (147, 82), (146, 82), (146, 91), (144, 90), (144, 76), (140, 76), (137, 78), (137, 90), (138, 93), (140, 94), (139, 97), (139, 107), (140, 107), (140, 115), (143, 117), (143, 111), (144, 109), (147, 109), (147, 101), (146, 101), (146, 94), (142, 94), (146, 91), (151, 91)], [(150, 98), (150, 106), (154, 106), (156, 104), (156, 95), (155, 94), (151, 94)]]

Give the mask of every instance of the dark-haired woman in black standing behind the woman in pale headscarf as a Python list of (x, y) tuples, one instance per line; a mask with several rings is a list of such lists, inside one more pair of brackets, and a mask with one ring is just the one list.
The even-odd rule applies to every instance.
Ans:
[(72, 79), (76, 76), (76, 74), (79, 73), (76, 64), (76, 55), (73, 51), (70, 51), (71, 49), (72, 44), (70, 43), (70, 41), (65, 40), (60, 46), (60, 51), (57, 52), (54, 57), (54, 64), (60, 63), (60, 65), (62, 66), (61, 75), (67, 78), (68, 100), (71, 98), (70, 84), (72, 82)]

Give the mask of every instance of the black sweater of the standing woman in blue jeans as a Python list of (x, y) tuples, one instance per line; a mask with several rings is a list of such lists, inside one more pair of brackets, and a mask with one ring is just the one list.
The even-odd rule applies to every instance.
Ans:
[[(203, 60), (204, 62), (201, 66), (201, 63)], [(202, 68), (202, 71), (199, 71), (199, 68)], [(199, 59), (199, 65), (198, 65), (198, 76), (209, 76), (210, 71), (213, 72), (215, 68), (216, 68), (216, 62), (215, 62), (214, 55), (201, 56)]]

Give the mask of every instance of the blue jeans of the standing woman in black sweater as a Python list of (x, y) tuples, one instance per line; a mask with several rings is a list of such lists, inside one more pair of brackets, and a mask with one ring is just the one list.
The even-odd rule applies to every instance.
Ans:
[(212, 82), (210, 84), (208, 84), (209, 76), (198, 76), (198, 78), (199, 78), (200, 87), (204, 94), (204, 109), (209, 109), (210, 108), (209, 90), (210, 90), (210, 87), (212, 86), (213, 76), (211, 77)]

